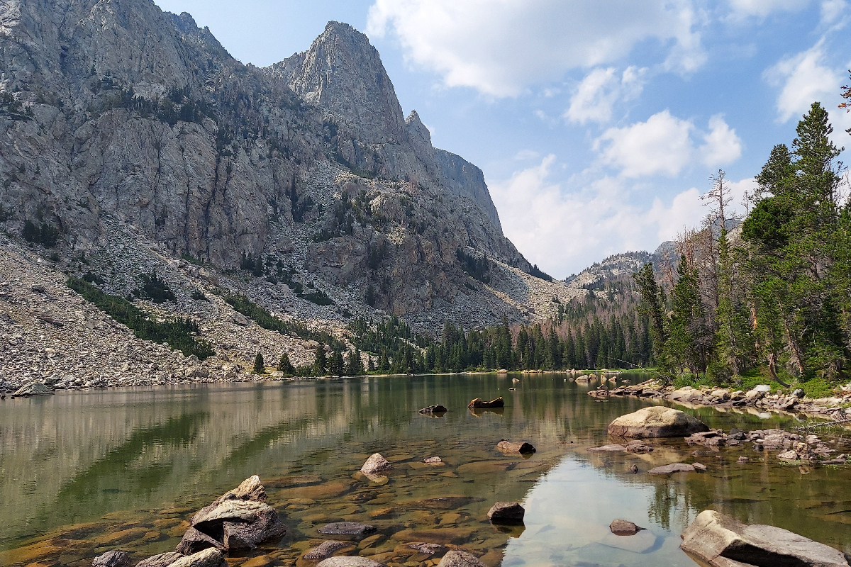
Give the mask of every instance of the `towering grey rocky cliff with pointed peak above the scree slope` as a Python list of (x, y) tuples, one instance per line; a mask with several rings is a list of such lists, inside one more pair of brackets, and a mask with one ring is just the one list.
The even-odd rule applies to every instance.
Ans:
[[(551, 298), (583, 292), (529, 275), (481, 170), (434, 148), (415, 112), (403, 118), (351, 26), (330, 22), (260, 69), (151, 0), (20, 0), (0, 16), (10, 234), (53, 227), (64, 259), (111, 247), (111, 224), (209, 269), (271, 256), (421, 327), (545, 318)], [(487, 256), (492, 283), (467, 275), (459, 251)]]

